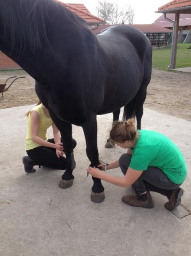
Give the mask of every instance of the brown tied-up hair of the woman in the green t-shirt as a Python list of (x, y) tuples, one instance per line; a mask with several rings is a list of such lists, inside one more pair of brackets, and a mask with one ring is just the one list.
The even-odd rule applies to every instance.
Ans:
[(110, 131), (110, 138), (113, 142), (124, 143), (125, 141), (134, 141), (137, 136), (138, 133), (133, 118), (125, 122), (116, 122)]

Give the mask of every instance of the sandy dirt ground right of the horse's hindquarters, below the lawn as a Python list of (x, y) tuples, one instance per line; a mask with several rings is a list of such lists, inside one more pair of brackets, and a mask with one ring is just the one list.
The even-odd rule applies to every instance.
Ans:
[(153, 69), (144, 106), (191, 121), (191, 73)]

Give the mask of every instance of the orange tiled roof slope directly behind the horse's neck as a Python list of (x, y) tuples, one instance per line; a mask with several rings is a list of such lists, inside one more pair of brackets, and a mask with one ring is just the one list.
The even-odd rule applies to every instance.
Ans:
[(66, 4), (60, 0), (55, 0), (58, 4), (64, 5), (71, 12), (74, 12), (78, 16), (80, 16), (83, 20), (86, 20), (88, 24), (100, 24), (104, 23), (104, 20), (92, 15), (88, 9), (84, 6), (84, 4)]

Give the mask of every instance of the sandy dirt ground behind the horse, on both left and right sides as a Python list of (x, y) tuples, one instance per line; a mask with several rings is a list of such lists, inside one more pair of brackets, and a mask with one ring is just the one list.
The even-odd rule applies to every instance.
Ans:
[[(32, 77), (23, 70), (1, 71), (0, 83), (4, 83), (11, 76), (26, 78), (16, 80), (8, 91), (4, 92), (0, 109), (38, 102), (35, 80)], [(8, 81), (8, 85), (10, 82)], [(191, 73), (153, 69), (144, 106), (191, 121)]]

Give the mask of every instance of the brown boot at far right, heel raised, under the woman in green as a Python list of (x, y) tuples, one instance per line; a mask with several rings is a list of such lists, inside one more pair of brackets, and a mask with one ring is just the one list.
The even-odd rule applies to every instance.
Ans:
[(167, 210), (172, 211), (175, 207), (179, 206), (183, 193), (184, 191), (181, 187), (172, 189), (169, 201), (164, 204), (164, 207), (167, 208)]

